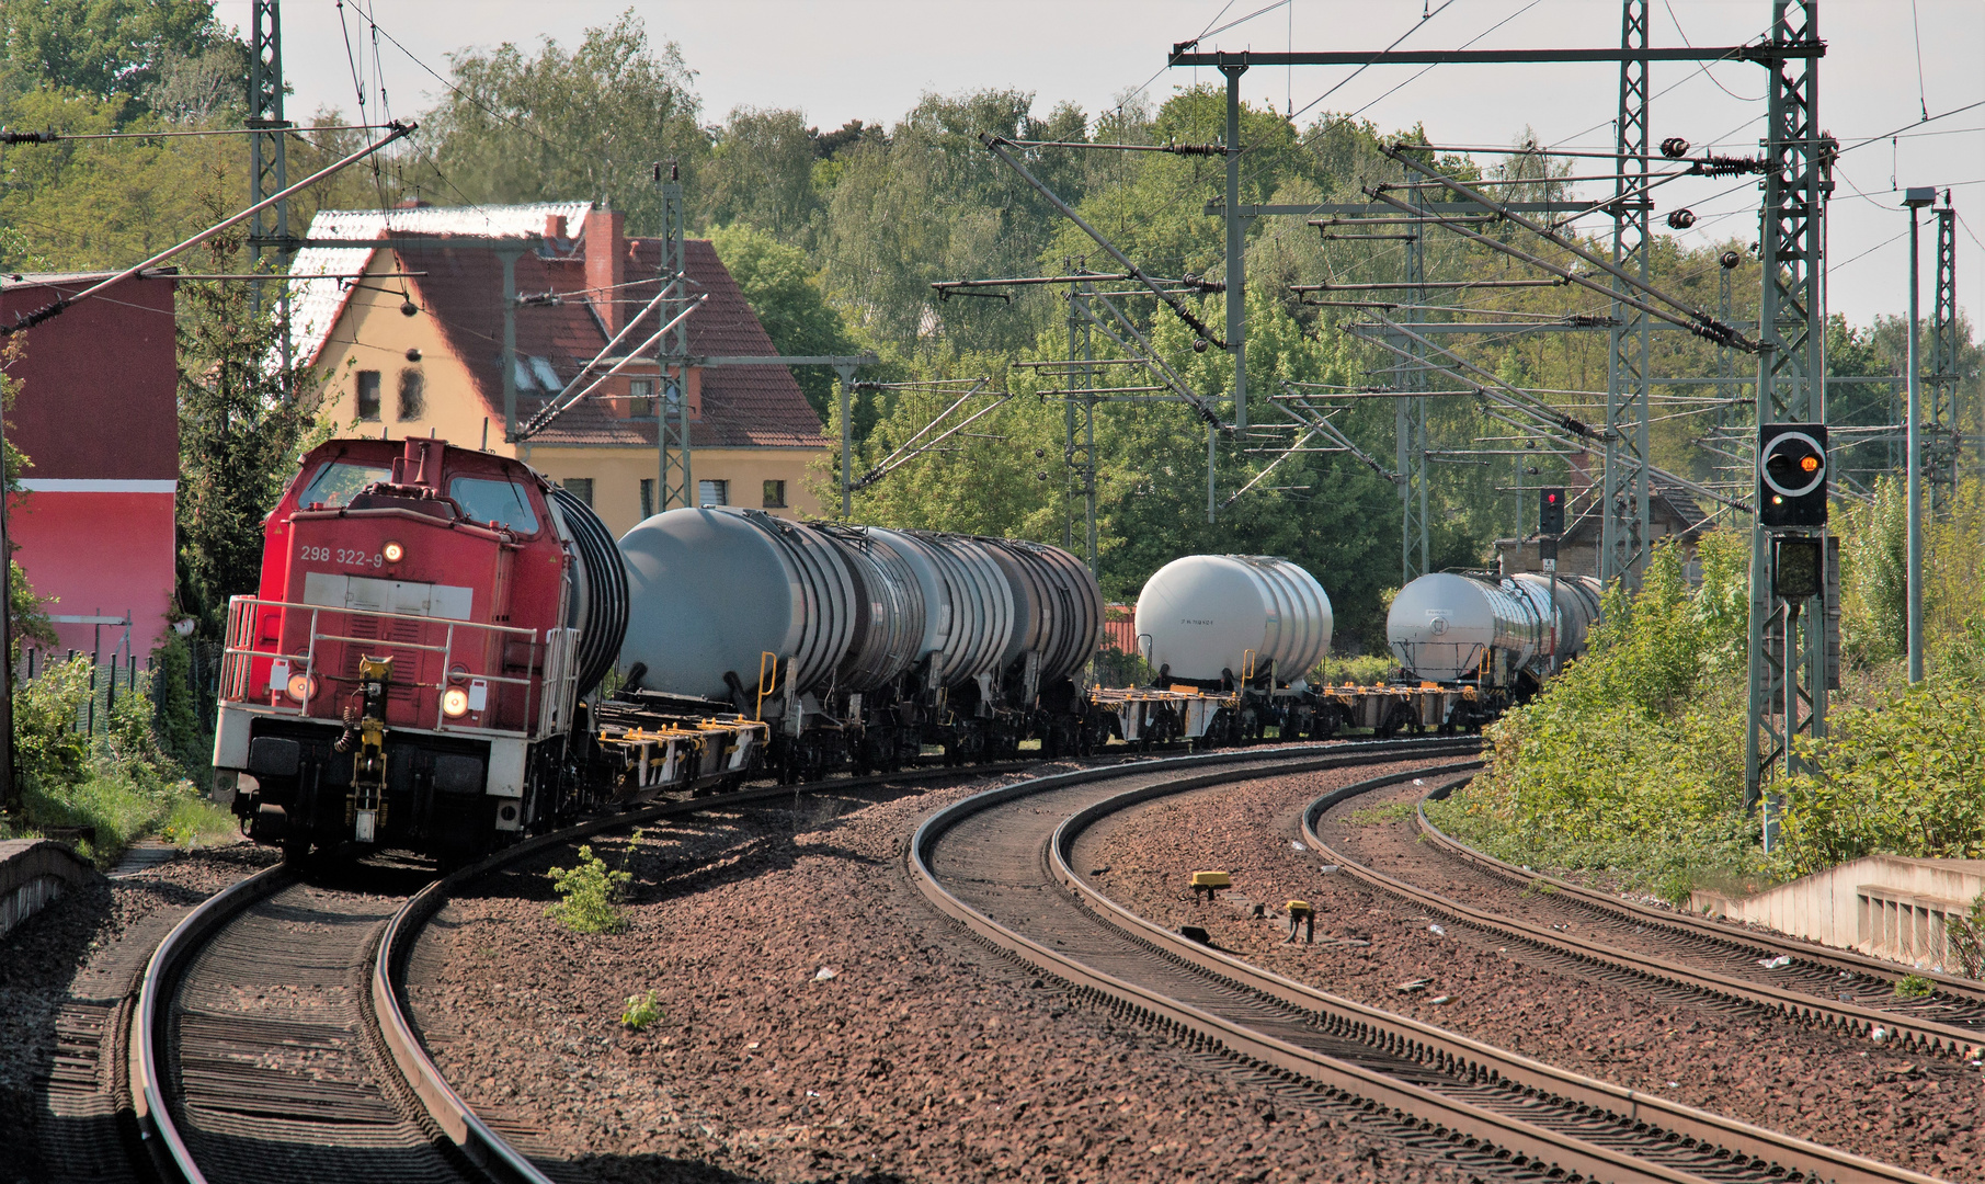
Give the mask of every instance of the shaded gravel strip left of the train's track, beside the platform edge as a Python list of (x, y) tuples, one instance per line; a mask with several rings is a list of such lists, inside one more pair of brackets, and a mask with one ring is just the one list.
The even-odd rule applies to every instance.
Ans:
[(266, 848), (224, 846), (125, 880), (95, 880), (0, 940), (0, 1180), (62, 1178), (60, 1164), (42, 1162), (38, 1083), (54, 1061), (56, 1013), (71, 991), (83, 999), (121, 993), (187, 910), (276, 858)]

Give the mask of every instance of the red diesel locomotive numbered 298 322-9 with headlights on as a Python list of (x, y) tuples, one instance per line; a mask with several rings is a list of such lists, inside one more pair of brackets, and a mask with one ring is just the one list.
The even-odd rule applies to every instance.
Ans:
[(314, 449), (228, 606), (214, 797), (290, 854), (472, 854), (596, 781), (586, 695), (627, 626), (605, 526), (439, 439)]

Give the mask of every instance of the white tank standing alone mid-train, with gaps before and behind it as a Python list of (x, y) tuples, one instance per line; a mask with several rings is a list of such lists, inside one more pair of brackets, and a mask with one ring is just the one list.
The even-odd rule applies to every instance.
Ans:
[(1223, 683), (1272, 671), (1300, 679), (1330, 652), (1330, 596), (1316, 576), (1264, 554), (1187, 554), (1137, 594), (1137, 648), (1159, 681)]

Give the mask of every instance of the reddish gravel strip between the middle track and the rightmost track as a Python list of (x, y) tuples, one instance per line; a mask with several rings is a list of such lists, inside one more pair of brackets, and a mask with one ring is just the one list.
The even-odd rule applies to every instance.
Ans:
[[(1949, 1180), (1985, 1180), (1985, 1073), (1763, 1011), (1657, 999), (1524, 960), (1522, 950), (1368, 890), (1298, 850), (1300, 813), (1338, 781), (1264, 779), (1165, 799), (1104, 820), (1074, 850), (1118, 904), (1292, 979), (1411, 1015), (1628, 1089)], [(1437, 785), (1427, 781), (1427, 787)], [(1403, 803), (1423, 787), (1338, 805), (1318, 834), (1413, 880), (1423, 856)], [(1388, 858), (1391, 852), (1391, 858)], [(1231, 870), (1233, 892), (1195, 902), (1195, 870)], [(1433, 886), (1439, 890), (1439, 886)], [(1255, 920), (1237, 900), (1262, 902)], [(1288, 900), (1316, 906), (1316, 946), (1284, 944)], [(1493, 904), (1471, 902), (1477, 908)]]

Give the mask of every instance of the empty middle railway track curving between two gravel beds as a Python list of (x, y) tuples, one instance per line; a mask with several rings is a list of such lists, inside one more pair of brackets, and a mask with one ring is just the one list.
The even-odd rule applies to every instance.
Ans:
[[(941, 910), (1080, 995), (1237, 1069), (1278, 1077), (1314, 1107), (1483, 1176), (1929, 1180), (1316, 991), (1143, 922), (1070, 862), (1084, 828), (1155, 797), (1473, 751), (1473, 743), (1453, 741), (1340, 745), (1040, 777), (931, 814), (909, 860)], [(1380, 775), (1332, 797), (1415, 775), (1429, 769)]]

